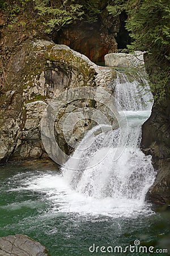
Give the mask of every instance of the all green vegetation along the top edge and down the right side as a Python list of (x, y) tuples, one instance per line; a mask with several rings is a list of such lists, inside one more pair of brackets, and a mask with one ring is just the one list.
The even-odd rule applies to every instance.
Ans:
[(113, 16), (125, 12), (129, 52), (146, 52), (151, 90), (157, 103), (169, 92), (170, 8), (169, 0), (0, 0), (1, 27), (27, 26), (27, 20), (41, 23), (45, 34), (52, 34), (78, 20), (93, 23), (107, 10)]

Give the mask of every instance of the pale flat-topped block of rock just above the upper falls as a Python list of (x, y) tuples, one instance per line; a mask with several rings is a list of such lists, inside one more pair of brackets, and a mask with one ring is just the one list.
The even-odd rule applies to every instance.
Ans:
[(134, 54), (127, 53), (108, 53), (104, 56), (105, 65), (118, 68), (143, 67), (143, 52), (135, 51)]

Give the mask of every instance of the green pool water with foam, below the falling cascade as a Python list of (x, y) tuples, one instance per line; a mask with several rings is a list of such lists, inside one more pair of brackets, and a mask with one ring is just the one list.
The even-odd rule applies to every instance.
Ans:
[[(168, 210), (155, 211), (152, 205), (147, 205), (147, 210), (127, 217), (76, 212), (65, 200), (66, 192), (62, 190), (62, 184), (52, 183), (54, 177), (59, 175), (56, 166), (42, 162), (0, 166), (1, 237), (26, 234), (45, 245), (52, 256), (169, 255), (160, 250), (168, 249), (170, 252)], [(55, 188), (58, 185), (59, 192)], [(134, 245), (135, 240), (139, 240), (141, 246), (153, 246), (154, 251), (159, 249), (161, 252), (96, 253), (95, 249), (93, 253), (89, 250), (94, 244), (106, 248), (122, 246), (125, 249)]]

